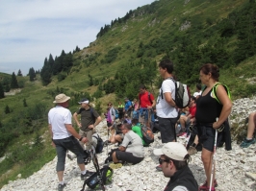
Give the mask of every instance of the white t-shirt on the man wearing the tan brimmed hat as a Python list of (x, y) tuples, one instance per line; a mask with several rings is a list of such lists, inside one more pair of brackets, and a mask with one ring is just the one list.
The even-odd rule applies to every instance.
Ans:
[(52, 126), (53, 139), (63, 139), (72, 134), (66, 130), (65, 124), (72, 124), (71, 112), (61, 106), (53, 107), (48, 112), (48, 123)]

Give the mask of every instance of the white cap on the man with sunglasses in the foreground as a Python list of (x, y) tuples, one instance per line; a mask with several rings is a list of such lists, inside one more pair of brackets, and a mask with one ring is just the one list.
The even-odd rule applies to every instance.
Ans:
[(178, 161), (185, 161), (185, 156), (188, 152), (184, 145), (178, 142), (169, 142), (164, 145), (161, 149), (155, 149), (153, 151), (154, 155), (166, 155), (171, 159)]

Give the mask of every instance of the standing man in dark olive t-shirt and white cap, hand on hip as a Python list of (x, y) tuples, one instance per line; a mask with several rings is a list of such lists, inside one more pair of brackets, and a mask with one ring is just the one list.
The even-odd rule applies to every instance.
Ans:
[[(90, 101), (87, 98), (83, 98), (78, 104), (81, 104), (81, 107), (73, 114), (73, 118), (76, 121), (77, 126), (80, 128), (79, 134), (88, 138), (87, 150), (91, 149), (91, 141), (93, 129), (101, 122), (101, 117), (98, 112), (90, 107)], [(78, 121), (77, 115), (81, 115), (81, 123)], [(84, 143), (80, 142), (83, 149)]]

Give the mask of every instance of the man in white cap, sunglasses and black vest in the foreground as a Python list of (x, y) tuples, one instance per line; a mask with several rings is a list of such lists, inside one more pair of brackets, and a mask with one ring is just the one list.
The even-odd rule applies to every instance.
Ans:
[(190, 155), (178, 142), (169, 142), (161, 149), (155, 149), (154, 155), (160, 155), (159, 163), (164, 176), (170, 178), (165, 191), (197, 191), (198, 184), (189, 168)]

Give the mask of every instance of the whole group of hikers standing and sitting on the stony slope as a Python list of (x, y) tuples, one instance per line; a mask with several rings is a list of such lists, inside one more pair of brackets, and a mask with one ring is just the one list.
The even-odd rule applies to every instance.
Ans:
[[(112, 103), (108, 104), (105, 114), (108, 140), (105, 144), (116, 144), (117, 148), (110, 152), (106, 162), (113, 169), (120, 168), (125, 162), (140, 163), (144, 158), (144, 146), (148, 146), (143, 140), (141, 127), (146, 126), (151, 130), (157, 127), (164, 146), (155, 149), (153, 154), (159, 155), (156, 168), (169, 178), (165, 191), (215, 191), (218, 185), (214, 158), (216, 147), (225, 143), (225, 149), (231, 150), (227, 119), (231, 113), (232, 102), (225, 85), (218, 83), (218, 67), (212, 63), (201, 66), (199, 79), (204, 88), (201, 88), (201, 84), (196, 85), (196, 92), (191, 96), (189, 106), (185, 108), (178, 108), (175, 103), (176, 86), (172, 61), (160, 61), (159, 73), (164, 81), (157, 99), (141, 85), (138, 100), (134, 100), (134, 104), (128, 98), (125, 98), (124, 105), (119, 103), (116, 109)], [(76, 155), (81, 179), (90, 177), (91, 172), (86, 170), (84, 163), (84, 144), (86, 150), (90, 150), (94, 128), (102, 121), (98, 112), (90, 107), (90, 101), (82, 99), (79, 102), (81, 108), (73, 113), (73, 119), (80, 128), (77, 133), (72, 127), (72, 114), (66, 108), (69, 99), (70, 97), (64, 94), (57, 95), (54, 101), (56, 107), (51, 108), (48, 113), (52, 145), (56, 147), (58, 156), (58, 190), (63, 190), (66, 185), (64, 163), (67, 151)], [(78, 115), (81, 115), (81, 122), (77, 118)], [(256, 114), (252, 113), (249, 116), (248, 134), (241, 147), (255, 143), (255, 124)], [(177, 142), (177, 136), (192, 141), (188, 141), (186, 146)], [(190, 155), (197, 153), (198, 145), (201, 146), (201, 160), (206, 176), (205, 182), (200, 186), (188, 166)], [(213, 165), (215, 168), (212, 168)]]

